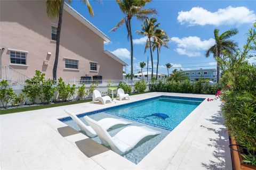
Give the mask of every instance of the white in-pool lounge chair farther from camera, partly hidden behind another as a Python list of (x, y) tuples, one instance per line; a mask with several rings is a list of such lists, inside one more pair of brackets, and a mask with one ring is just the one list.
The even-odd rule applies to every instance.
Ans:
[[(97, 136), (97, 133), (91, 128), (91, 126), (85, 125), (73, 112), (68, 111), (68, 109), (64, 110), (79, 126), (79, 128), (84, 131), (89, 137), (93, 138)], [(99, 120), (98, 123), (101, 124), (102, 128), (105, 130), (110, 129), (111, 127), (119, 124), (128, 125), (132, 124), (132, 122), (127, 122), (123, 120), (122, 118), (102, 118), (102, 120)]]

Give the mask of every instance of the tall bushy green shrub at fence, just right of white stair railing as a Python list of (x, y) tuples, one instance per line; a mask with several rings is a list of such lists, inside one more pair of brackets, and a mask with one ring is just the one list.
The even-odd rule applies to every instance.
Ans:
[(44, 81), (45, 74), (39, 70), (35, 71), (35, 76), (31, 79), (27, 79), (26, 85), (22, 89), (22, 92), (29, 98), (31, 103), (35, 104), (35, 100), (38, 97), (42, 100), (42, 83)]

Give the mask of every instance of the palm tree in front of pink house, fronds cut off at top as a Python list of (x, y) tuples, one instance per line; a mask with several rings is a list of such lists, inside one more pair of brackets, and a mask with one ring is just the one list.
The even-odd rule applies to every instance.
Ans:
[[(60, 50), (60, 32), (61, 32), (61, 25), (62, 25), (63, 7), (64, 7), (65, 2), (71, 4), (72, 0), (68, 0), (68, 1), (47, 0), (46, 1), (46, 13), (47, 13), (48, 17), (50, 19), (59, 17), (58, 28), (57, 28), (55, 60), (54, 60), (53, 71), (52, 71), (53, 80), (57, 80), (57, 67), (58, 67), (59, 50)], [(87, 6), (90, 15), (94, 16), (92, 6), (91, 6), (89, 0), (82, 0), (82, 2)]]

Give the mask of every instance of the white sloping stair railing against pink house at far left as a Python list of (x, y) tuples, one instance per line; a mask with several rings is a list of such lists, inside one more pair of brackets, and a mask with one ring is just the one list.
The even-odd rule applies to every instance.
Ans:
[(29, 79), (26, 75), (18, 72), (10, 66), (0, 66), (0, 79), (7, 80), (9, 86), (23, 86), (25, 81)]

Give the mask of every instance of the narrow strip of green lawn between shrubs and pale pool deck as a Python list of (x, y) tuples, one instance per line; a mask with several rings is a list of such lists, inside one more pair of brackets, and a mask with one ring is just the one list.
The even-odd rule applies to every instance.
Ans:
[[(130, 94), (130, 96), (140, 95), (140, 94), (147, 94), (149, 92), (150, 91), (140, 92), (140, 93), (136, 93), (136, 94)], [(68, 102), (63, 102), (63, 103), (46, 104), (46, 105), (39, 105), (39, 106), (27, 106), (27, 107), (17, 107), (17, 108), (3, 109), (3, 110), (0, 110), (0, 115), (10, 114), (10, 113), (17, 113), (17, 112), (34, 111), (34, 110), (43, 109), (43, 108), (74, 105), (74, 104), (86, 103), (86, 102), (90, 102), (90, 101), (92, 101), (92, 99), (68, 101)]]

